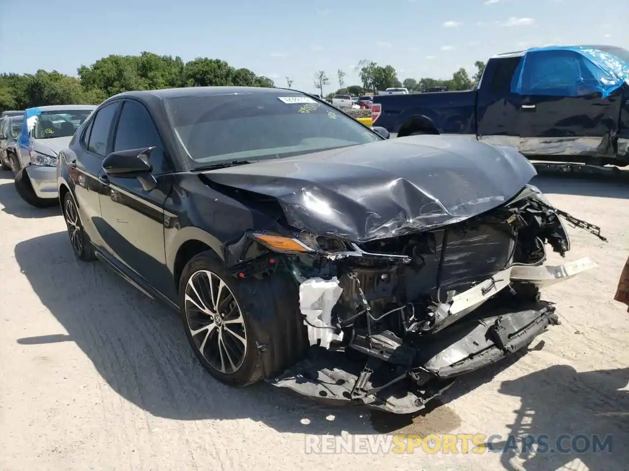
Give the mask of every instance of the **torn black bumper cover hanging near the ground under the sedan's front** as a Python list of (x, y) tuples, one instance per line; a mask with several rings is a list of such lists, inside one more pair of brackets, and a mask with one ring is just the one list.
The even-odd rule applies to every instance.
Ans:
[[(269, 382), (312, 398), (362, 401), (371, 408), (387, 412), (413, 413), (452, 386), (455, 377), (517, 352), (549, 324), (557, 323), (555, 308), (550, 303), (540, 301), (526, 307), (515, 311), (495, 310), (493, 316), (467, 320), (426, 337), (416, 357), (418, 364), (424, 364), (421, 370), (427, 374), (421, 386), (410, 376), (394, 381), (395, 372), (375, 369), (372, 379), (361, 385), (367, 394), (355, 396), (354, 387), (359, 382), (362, 362), (352, 361), (341, 352), (322, 349), (311, 350), (308, 359)], [(382, 364), (382, 369), (388, 366)], [(387, 386), (391, 381), (394, 382)]]

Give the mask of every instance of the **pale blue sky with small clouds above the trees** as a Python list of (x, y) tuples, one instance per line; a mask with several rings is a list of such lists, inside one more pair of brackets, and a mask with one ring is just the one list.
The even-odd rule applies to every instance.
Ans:
[[(591, 0), (0, 0), (0, 72), (77, 68), (109, 54), (150, 51), (226, 60), (276, 86), (316, 92), (360, 84), (357, 63), (392, 65), (398, 78), (450, 78), (494, 54), (548, 44), (629, 48), (629, 2)], [(6, 14), (11, 8), (15, 14)], [(16, 22), (16, 20), (18, 20)], [(25, 28), (24, 22), (28, 22)], [(16, 24), (21, 24), (15, 28)]]

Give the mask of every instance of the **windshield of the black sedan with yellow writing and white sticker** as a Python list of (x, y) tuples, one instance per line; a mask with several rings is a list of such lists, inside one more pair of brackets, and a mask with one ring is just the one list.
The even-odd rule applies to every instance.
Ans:
[(197, 166), (281, 158), (381, 140), (328, 105), (281, 90), (165, 99), (165, 107)]

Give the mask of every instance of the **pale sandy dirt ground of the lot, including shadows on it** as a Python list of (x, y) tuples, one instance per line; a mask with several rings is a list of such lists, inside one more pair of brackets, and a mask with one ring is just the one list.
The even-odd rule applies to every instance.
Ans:
[[(214, 381), (177, 316), (102, 264), (75, 261), (58, 210), (28, 207), (0, 173), (0, 469), (625, 470), (629, 314), (612, 300), (629, 255), (629, 183), (543, 178), (599, 264), (545, 291), (563, 324), (516, 362), (455, 385), (415, 418), (335, 408), (265, 384)], [(553, 261), (559, 257), (553, 257)], [(611, 453), (306, 455), (304, 434), (613, 435)], [(623, 443), (625, 442), (625, 443)]]

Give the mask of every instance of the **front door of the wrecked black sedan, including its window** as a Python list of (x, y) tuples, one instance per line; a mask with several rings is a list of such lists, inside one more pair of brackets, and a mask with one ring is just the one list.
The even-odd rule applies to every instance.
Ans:
[(125, 99), (114, 132), (113, 151), (155, 146), (149, 163), (157, 182), (143, 188), (137, 178), (103, 176), (107, 191), (101, 195), (104, 241), (111, 255), (142, 276), (161, 293), (173, 296), (174, 283), (166, 265), (164, 202), (172, 187), (172, 163), (147, 108)]

